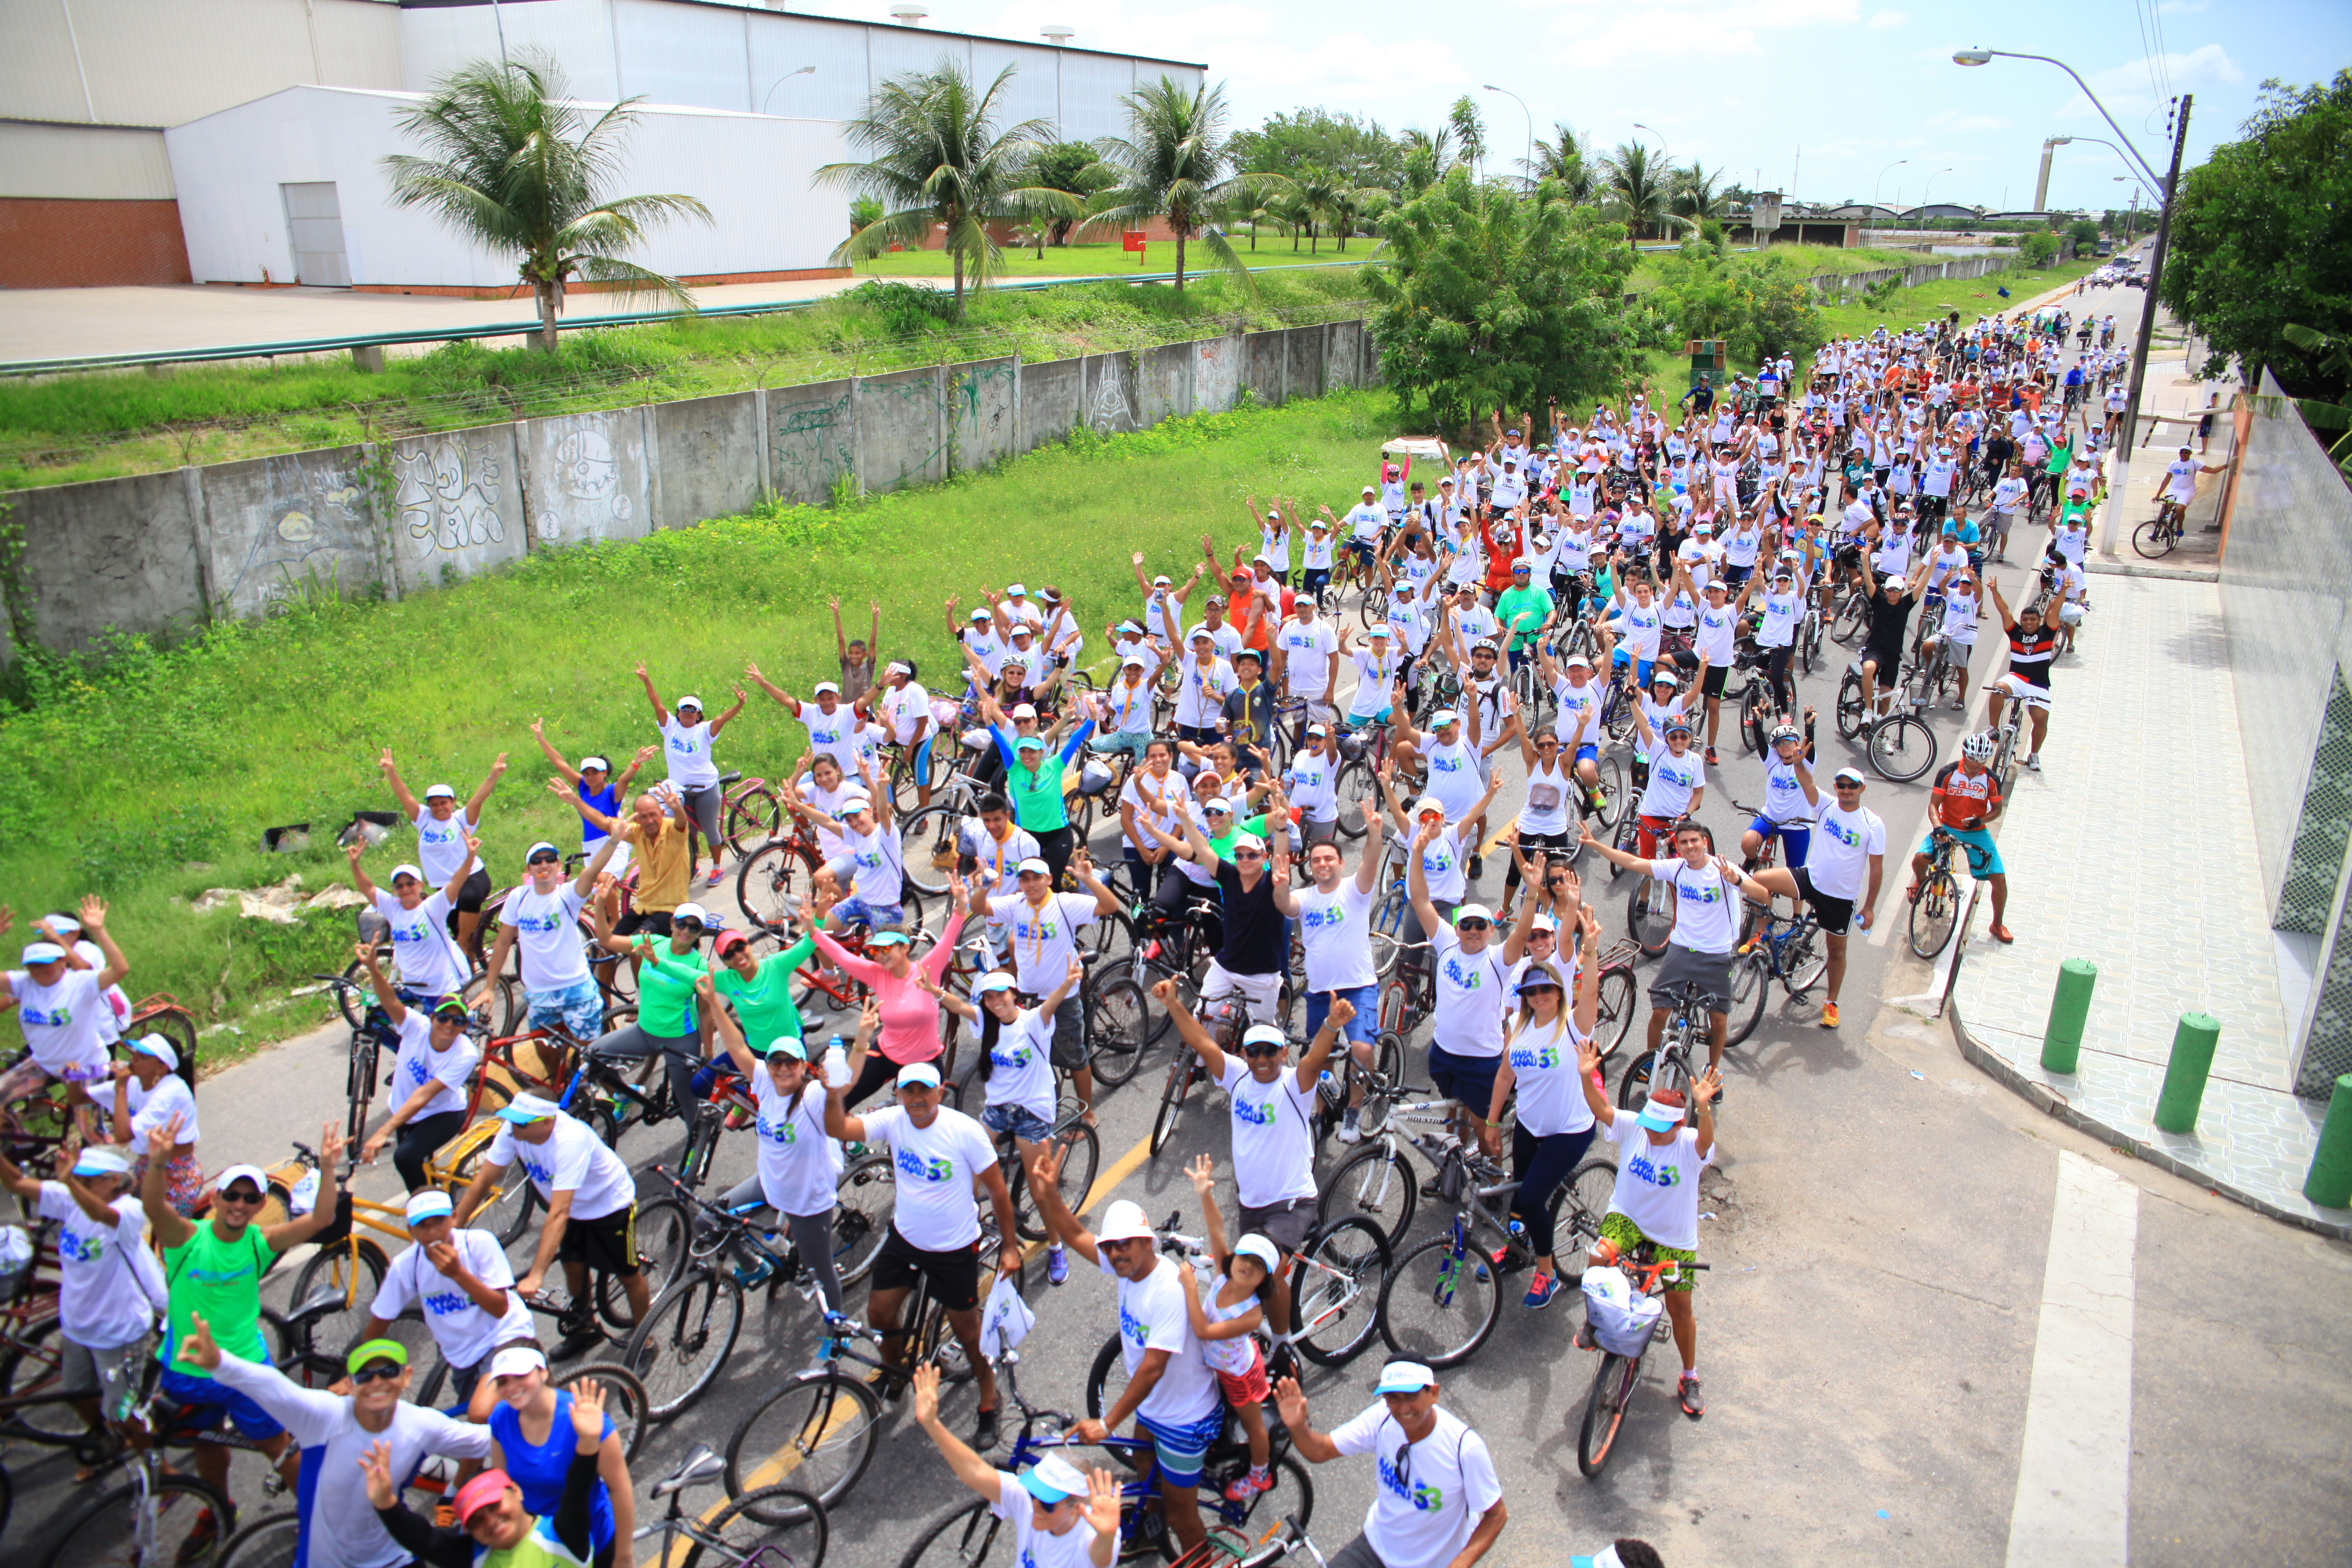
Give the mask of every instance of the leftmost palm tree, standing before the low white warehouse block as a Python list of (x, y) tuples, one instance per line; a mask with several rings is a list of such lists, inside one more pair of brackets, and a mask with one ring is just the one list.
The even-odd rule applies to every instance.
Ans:
[(637, 99), (590, 118), (546, 56), (449, 73), (397, 125), (430, 158), (393, 153), (383, 172), (400, 207), (428, 207), (466, 240), (513, 256), (539, 299), (539, 346), (555, 353), (564, 280), (663, 294), (691, 310), (694, 296), (621, 256), (670, 219), (710, 221), (691, 195), (609, 195)]

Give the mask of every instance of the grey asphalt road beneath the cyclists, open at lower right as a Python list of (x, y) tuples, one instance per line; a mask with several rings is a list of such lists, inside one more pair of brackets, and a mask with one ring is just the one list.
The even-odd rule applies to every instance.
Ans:
[[(2004, 590), (2020, 578), (2011, 569)], [(1980, 644), (1971, 691), (1997, 644)], [(1837, 668), (1802, 684), (1823, 712)], [(1950, 757), (1962, 715), (1933, 722)], [(1820, 755), (1828, 766), (1863, 764), (1828, 724)], [(1517, 780), (1517, 766), (1508, 773)], [(1731, 797), (1759, 788), (1759, 764), (1726, 745), (1700, 811), (1719, 839), (1738, 830)], [(1515, 792), (1508, 785), (1496, 825), (1517, 809)], [(1508, 1488), (1512, 1523), (1489, 1561), (1550, 1568), (1616, 1535), (1651, 1540), (1677, 1568), (2352, 1559), (2352, 1248), (2039, 1117), (1969, 1067), (1940, 1023), (1886, 1004), (1931, 983), (1896, 933), (1896, 860), (1919, 839), (1926, 785), (1872, 783), (1865, 804), (1889, 825), (1879, 914), (1891, 940), (1853, 943), (1844, 1027), (1818, 1027), (1811, 1006), (1776, 1009), (1729, 1056), (1722, 1157), (1700, 1185), (1708, 1415), (1691, 1422), (1672, 1408), (1672, 1356), (1653, 1356), (1621, 1453), (1585, 1481), (1573, 1420), (1592, 1359), (1569, 1342), (1581, 1307), (1562, 1295), (1538, 1314), (1505, 1298), (1486, 1347), (1444, 1375), (1449, 1406), (1486, 1436)], [(1491, 856), (1479, 886), (1489, 900), (1501, 870)], [(1590, 889), (1611, 933), (1623, 929), (1623, 889)], [(2034, 940), (2032, 910), (2016, 910), (2011, 926)], [(301, 1131), (289, 1107), (334, 1114), (341, 1046), (325, 1032), (207, 1081), (207, 1164), (282, 1152)], [(1195, 1154), (1225, 1164), (1228, 1143), (1221, 1117), (1192, 1114), (1145, 1159), (1157, 1077), (1148, 1065), (1103, 1100), (1096, 1204), (1131, 1197), (1155, 1220), (1183, 1211), (1192, 1225), (1181, 1166)], [(623, 1152), (642, 1171), (675, 1152), (666, 1133), (633, 1133)], [(720, 1173), (734, 1178), (748, 1161), (731, 1140)], [(365, 1180), (390, 1187), (388, 1173)], [(1435, 1227), (1432, 1211), (1421, 1206), (1418, 1234)], [(1037, 1331), (1021, 1387), (1075, 1408), (1112, 1331), (1112, 1284), (1075, 1274), (1049, 1288), (1033, 1267), (1030, 1300)], [(694, 1443), (724, 1448), (809, 1354), (811, 1314), (797, 1298), (755, 1312), (720, 1385), (647, 1443), (640, 1497)], [(1378, 1359), (1374, 1342), (1355, 1366), (1308, 1378), (1317, 1427), (1371, 1401)], [(950, 1392), (948, 1420), (969, 1429), (969, 1389)], [(833, 1516), (837, 1566), (891, 1568), (957, 1502), (910, 1418), (896, 1422)], [(80, 1502), (54, 1450), (14, 1446), (7, 1462), (7, 1540), (21, 1549)], [(242, 1460), (238, 1479), (254, 1490), (256, 1467)], [(1341, 1462), (1312, 1481), (1312, 1533), (1331, 1552), (1369, 1505), (1369, 1472)]]

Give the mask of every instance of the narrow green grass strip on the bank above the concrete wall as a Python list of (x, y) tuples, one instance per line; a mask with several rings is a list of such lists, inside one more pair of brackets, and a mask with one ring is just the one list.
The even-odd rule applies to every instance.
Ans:
[(1235, 322), (1258, 329), (1364, 313), (1355, 268), (1268, 268), (1249, 289), (1207, 277), (1181, 296), (1164, 284), (983, 292), (960, 324), (941, 317), (948, 306), (929, 292), (889, 282), (875, 289), (882, 294), (856, 289), (776, 315), (569, 331), (553, 357), (445, 343), (426, 355), (395, 355), (376, 376), (343, 355), (322, 355), (282, 367), (188, 364), (165, 374), (0, 381), (0, 489), (948, 360), (1007, 353), (1068, 360), (1211, 336)]

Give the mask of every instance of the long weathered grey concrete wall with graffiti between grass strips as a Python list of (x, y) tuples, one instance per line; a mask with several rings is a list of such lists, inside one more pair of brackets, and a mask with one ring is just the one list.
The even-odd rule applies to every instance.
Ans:
[(360, 447), (16, 491), (42, 642), (261, 616), (313, 585), (405, 595), (520, 559), (687, 529), (760, 503), (823, 505), (936, 484), (1061, 442), (1369, 386), (1362, 322), (1225, 334), (1141, 353), (1016, 357), (527, 418), (386, 449), (390, 515), (372, 517)]

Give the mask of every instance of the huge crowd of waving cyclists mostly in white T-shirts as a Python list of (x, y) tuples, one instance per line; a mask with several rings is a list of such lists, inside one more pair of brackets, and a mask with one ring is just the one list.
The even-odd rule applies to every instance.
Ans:
[[(1508, 1523), (1505, 1488), (1439, 1403), (1437, 1373), (1470, 1352), (1414, 1328), (1402, 1298), (1444, 1316), (1477, 1295), (1465, 1269), (1489, 1295), (1524, 1272), (1536, 1312), (1588, 1272), (1649, 1265), (1679, 1408), (1705, 1413), (1698, 1192), (1738, 976), (1773, 922), (1818, 931), (1818, 1023), (1837, 1027), (1846, 940), (1884, 877), (1870, 776), (1820, 757), (1799, 668), (1823, 628), (1853, 639), (1839, 717), (1877, 759), (1875, 731), (1919, 717), (1900, 698), (1922, 682), (1966, 705), (1969, 654), (1999, 628), (1987, 729), (1933, 778), (1910, 870), (1917, 900), (1964, 849), (2013, 940), (1987, 823), (2011, 752), (2039, 769), (2049, 745), (2122, 376), (2112, 317), (2039, 308), (1839, 339), (1802, 381), (1778, 360), (1679, 404), (1494, 411), (1484, 447), (1388, 456), (1338, 512), (1249, 498), (1240, 543), (1202, 536), (1197, 562), (1157, 576), (1134, 555), (1138, 599), (1094, 654), (1058, 588), (1009, 583), (969, 611), (946, 599), (960, 668), (934, 686), (884, 658), (882, 607), (807, 696), (746, 665), (807, 741), (755, 799), (722, 771), (746, 689), (713, 712), (666, 701), (640, 663), (656, 738), (626, 766), (569, 762), (534, 719), (581, 837), (532, 844), (510, 886), (480, 839), (506, 755), (461, 799), (414, 795), (386, 750), (414, 860), (372, 872), (353, 839), (369, 919), (346, 990), (388, 1093), (369, 1067), (308, 1182), (249, 1164), (205, 1178), (181, 1053), (125, 1034), (132, 959), (103, 903), (35, 924), (9, 973), (31, 1053), (0, 1079), (0, 1180), (42, 1227), (59, 1331), (0, 1394), (71, 1399), (92, 1472), (165, 1427), (233, 1429), (282, 1467), (310, 1568), (633, 1568), (612, 1389), (635, 1378), (628, 1399), (661, 1406), (663, 1356), (689, 1352), (654, 1326), (680, 1291), (790, 1284), (821, 1361), (880, 1345), (875, 1385), (913, 1392), (1023, 1563), (1105, 1568), (1138, 1512), (1190, 1552), (1279, 1493), (1282, 1462), (1364, 1455), (1376, 1502), (1334, 1561), (1468, 1568)], [(1987, 571), (2011, 559), (2037, 562), (2016, 607)], [(1700, 806), (1740, 750), (1762, 806), (1740, 806), (1733, 851)], [(1599, 903), (1618, 877), (1630, 943)], [(828, 1044), (837, 1009), (854, 1013)], [(1141, 1079), (1162, 1095), (1152, 1154), (1195, 1086), (1230, 1110), (1230, 1147), (1190, 1171), (1202, 1281), (1134, 1201), (1084, 1201), (1091, 1154), (1070, 1178), (1103, 1095), (1169, 1034), (1164, 1081)], [(1414, 1112), (1435, 1131), (1409, 1133)], [(663, 1185), (616, 1143), (663, 1114), (689, 1128), (661, 1171), (687, 1222), (654, 1234)], [(708, 1171), (731, 1128), (750, 1173), (699, 1190), (694, 1138)], [(1503, 1246), (1439, 1248), (1428, 1279), (1406, 1274), (1421, 1253), (1390, 1269), (1404, 1222), (1334, 1185), (1383, 1138), (1388, 1159), (1402, 1143), (1435, 1164), (1423, 1194), (1451, 1204), (1456, 1173), (1494, 1197)], [(407, 1244), (343, 1284), (350, 1342), (289, 1363), (263, 1276), (296, 1246), (346, 1244), (341, 1185), (386, 1152)], [(746, 1241), (755, 1225), (774, 1251)], [(1348, 1276), (1350, 1234), (1376, 1237), (1369, 1279)], [(1051, 1286), (1073, 1258), (1115, 1279), (1117, 1366), (1070, 1427), (1115, 1448), (1087, 1467), (1025, 1439), (1018, 1472), (988, 1460), (1033, 1415), (1000, 1375), (1023, 1239)], [(1334, 1307), (1341, 1276), (1362, 1295)], [(400, 1338), (419, 1316), (423, 1338)], [(1359, 1352), (1374, 1316), (1395, 1354), (1371, 1403), (1324, 1427), (1308, 1361), (1345, 1359), (1334, 1333)], [(616, 1371), (567, 1382), (590, 1352)], [(423, 1354), (445, 1368), (430, 1399), (412, 1394)], [(938, 1413), (941, 1368), (974, 1385), (964, 1432)], [(181, 1568), (238, 1556), (228, 1465), (195, 1443), (212, 1490)], [(421, 1472), (445, 1481), (437, 1519), (402, 1502)]]

